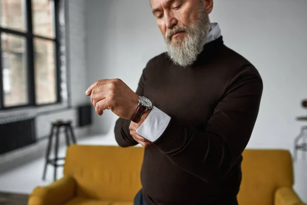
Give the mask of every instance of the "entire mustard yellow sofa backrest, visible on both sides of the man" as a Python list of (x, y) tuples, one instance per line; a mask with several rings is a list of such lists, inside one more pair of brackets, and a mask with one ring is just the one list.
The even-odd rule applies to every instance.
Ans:
[[(141, 189), (144, 148), (72, 145), (64, 175), (77, 181), (77, 195), (103, 200), (132, 201)], [(239, 204), (272, 205), (278, 187), (292, 187), (289, 151), (247, 149), (243, 153)]]

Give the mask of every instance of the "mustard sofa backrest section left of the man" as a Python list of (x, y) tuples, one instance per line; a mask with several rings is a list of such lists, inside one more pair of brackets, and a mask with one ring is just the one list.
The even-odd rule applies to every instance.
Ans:
[(141, 189), (144, 148), (72, 145), (64, 175), (77, 182), (77, 195), (101, 200), (132, 201)]

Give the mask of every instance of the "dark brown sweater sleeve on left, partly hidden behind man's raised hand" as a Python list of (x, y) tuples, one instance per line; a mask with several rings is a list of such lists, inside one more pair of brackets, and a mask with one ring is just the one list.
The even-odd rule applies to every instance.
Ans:
[[(136, 93), (139, 96), (143, 96), (144, 86), (145, 86), (145, 75), (143, 70), (136, 91)], [(138, 142), (130, 135), (130, 130), (129, 130), (130, 121), (131, 120), (119, 117), (115, 123), (115, 128), (114, 128), (115, 139), (120, 147), (135, 146), (138, 144)]]

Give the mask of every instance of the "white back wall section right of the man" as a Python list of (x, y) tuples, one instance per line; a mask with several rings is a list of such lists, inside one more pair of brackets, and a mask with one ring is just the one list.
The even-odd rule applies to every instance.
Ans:
[(226, 44), (246, 56), (264, 80), (260, 113), (250, 147), (292, 149), (295, 117), (307, 98), (307, 1), (215, 1), (212, 20)]

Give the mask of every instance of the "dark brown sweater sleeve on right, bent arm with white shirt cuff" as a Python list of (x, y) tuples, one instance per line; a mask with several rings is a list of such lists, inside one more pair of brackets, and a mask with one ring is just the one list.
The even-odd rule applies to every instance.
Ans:
[(171, 116), (164, 133), (153, 144), (186, 172), (208, 183), (221, 182), (248, 144), (262, 87), (257, 70), (243, 67), (228, 81), (205, 131), (188, 127)]

